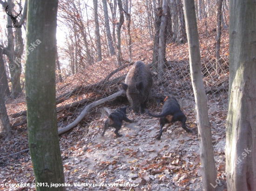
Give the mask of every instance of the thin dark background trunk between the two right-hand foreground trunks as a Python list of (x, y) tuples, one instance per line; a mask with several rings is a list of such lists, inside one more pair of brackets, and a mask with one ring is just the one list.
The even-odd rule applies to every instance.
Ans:
[(216, 54), (216, 71), (215, 77), (221, 73), (221, 61), (220, 61), (220, 46), (221, 46), (221, 23), (222, 23), (222, 0), (218, 0), (218, 12), (217, 12), (217, 31), (216, 31), (216, 44), (215, 44), (215, 54)]

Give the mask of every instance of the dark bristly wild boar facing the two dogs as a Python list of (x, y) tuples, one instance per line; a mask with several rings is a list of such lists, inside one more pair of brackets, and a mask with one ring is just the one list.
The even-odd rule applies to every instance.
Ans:
[(141, 61), (135, 62), (125, 78), (125, 83), (122, 83), (122, 88), (126, 91), (130, 107), (136, 115), (140, 108), (141, 114), (144, 113), (152, 85), (153, 78), (149, 66)]

